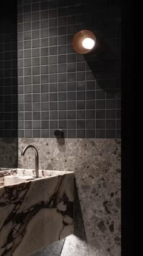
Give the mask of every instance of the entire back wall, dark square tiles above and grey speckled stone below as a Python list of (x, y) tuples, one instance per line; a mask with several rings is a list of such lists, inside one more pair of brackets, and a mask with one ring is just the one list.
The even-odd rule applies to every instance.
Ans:
[[(75, 171), (75, 235), (39, 255), (121, 255), (119, 1), (18, 1), (19, 168)], [(91, 29), (105, 51), (87, 60), (72, 39)], [(64, 130), (56, 140), (55, 129)]]

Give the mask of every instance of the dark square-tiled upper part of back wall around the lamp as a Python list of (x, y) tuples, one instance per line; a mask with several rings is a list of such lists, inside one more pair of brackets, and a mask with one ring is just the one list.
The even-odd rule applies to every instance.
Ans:
[[(120, 26), (114, 0), (18, 1), (19, 137), (121, 136)], [(82, 29), (104, 38), (104, 57), (76, 54)]]

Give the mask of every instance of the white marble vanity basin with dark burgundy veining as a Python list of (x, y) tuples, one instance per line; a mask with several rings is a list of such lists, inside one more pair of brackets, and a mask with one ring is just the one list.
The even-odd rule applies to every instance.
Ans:
[(0, 171), (0, 256), (27, 256), (71, 235), (74, 183), (74, 172)]

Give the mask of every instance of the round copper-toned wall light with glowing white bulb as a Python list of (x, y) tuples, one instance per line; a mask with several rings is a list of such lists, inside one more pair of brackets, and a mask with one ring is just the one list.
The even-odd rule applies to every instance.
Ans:
[(96, 37), (90, 30), (81, 30), (73, 38), (73, 49), (80, 54), (87, 54), (96, 48)]

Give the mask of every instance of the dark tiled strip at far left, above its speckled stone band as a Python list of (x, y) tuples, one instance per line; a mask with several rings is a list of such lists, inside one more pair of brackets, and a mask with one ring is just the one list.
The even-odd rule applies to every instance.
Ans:
[[(23, 75), (20, 69), (19, 75)], [(18, 137), (16, 1), (0, 10), (0, 137)]]

